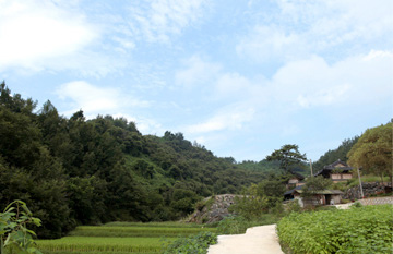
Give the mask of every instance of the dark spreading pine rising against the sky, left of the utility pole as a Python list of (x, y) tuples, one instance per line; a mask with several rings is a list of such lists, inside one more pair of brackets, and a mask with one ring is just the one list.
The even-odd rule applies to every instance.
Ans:
[(307, 158), (306, 154), (300, 154), (298, 145), (283, 145), (281, 149), (276, 149), (266, 156), (266, 160), (278, 160), (279, 168), (288, 172), (293, 166), (306, 161)]

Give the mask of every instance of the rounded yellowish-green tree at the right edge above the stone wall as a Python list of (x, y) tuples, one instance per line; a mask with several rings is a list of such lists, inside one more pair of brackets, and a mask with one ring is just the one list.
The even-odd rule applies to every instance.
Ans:
[(389, 176), (393, 184), (392, 171), (392, 128), (393, 123), (386, 123), (377, 128), (368, 129), (348, 153), (348, 164), (359, 167), (366, 173), (374, 173), (381, 177)]

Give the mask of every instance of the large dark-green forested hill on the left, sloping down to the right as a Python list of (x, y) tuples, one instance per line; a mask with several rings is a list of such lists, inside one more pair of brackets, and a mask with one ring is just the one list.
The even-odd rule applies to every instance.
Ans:
[(68, 119), (50, 101), (36, 110), (4, 83), (0, 92), (0, 209), (26, 202), (43, 220), (41, 238), (76, 225), (178, 219), (204, 196), (264, 178), (181, 133), (142, 135), (126, 119), (86, 120), (82, 110)]

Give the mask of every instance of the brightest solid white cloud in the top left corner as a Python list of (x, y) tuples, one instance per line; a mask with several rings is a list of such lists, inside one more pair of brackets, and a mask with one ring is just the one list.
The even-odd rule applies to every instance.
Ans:
[(0, 70), (46, 68), (44, 60), (75, 53), (98, 36), (84, 16), (50, 1), (1, 1)]

